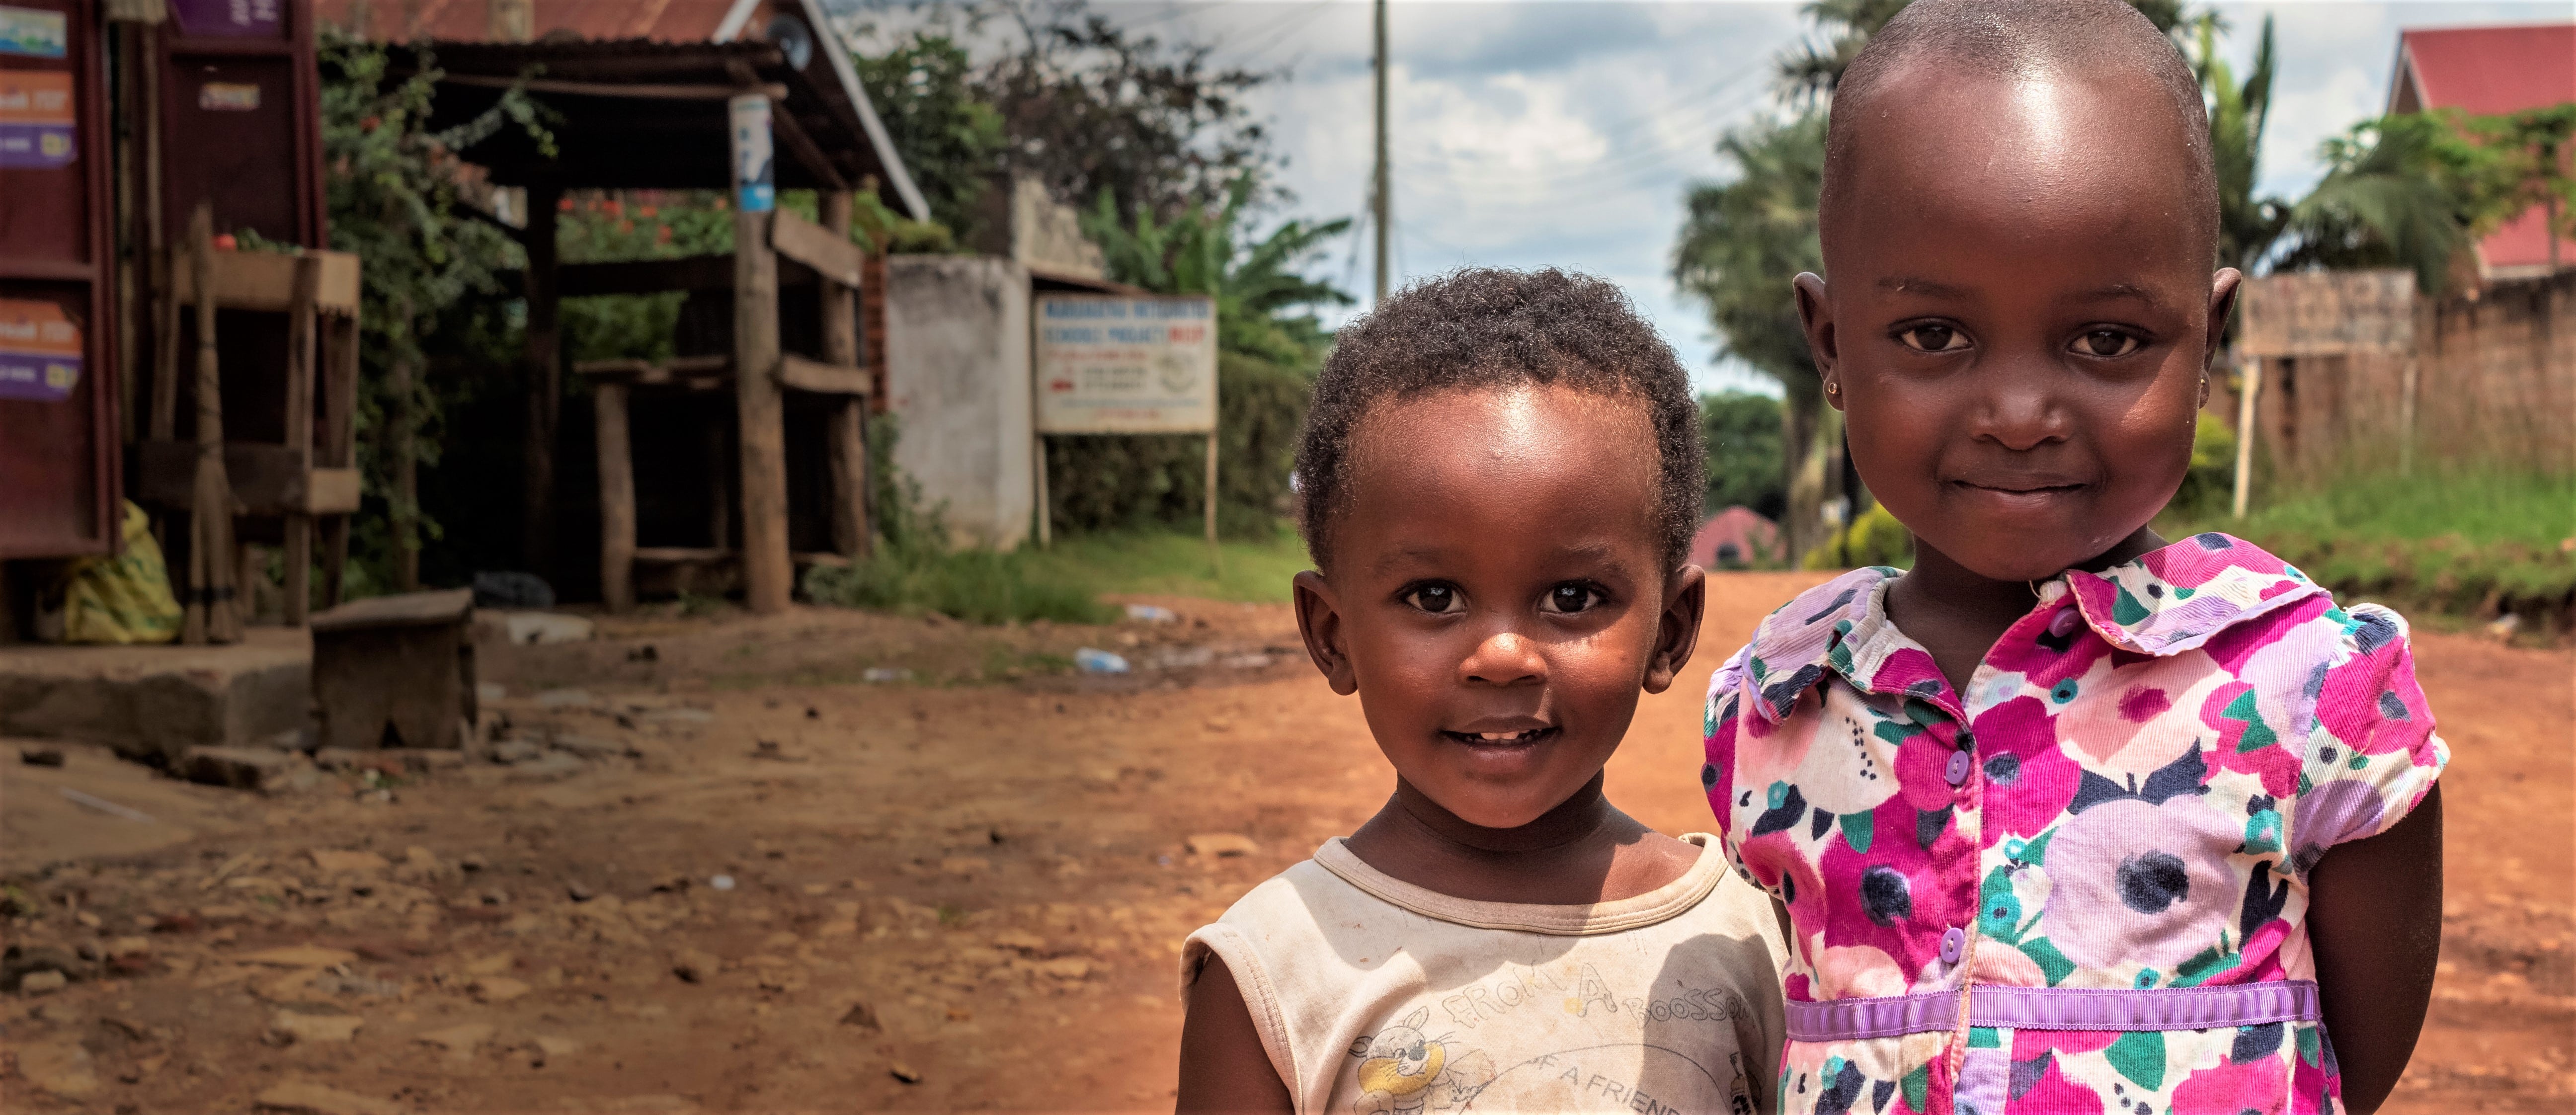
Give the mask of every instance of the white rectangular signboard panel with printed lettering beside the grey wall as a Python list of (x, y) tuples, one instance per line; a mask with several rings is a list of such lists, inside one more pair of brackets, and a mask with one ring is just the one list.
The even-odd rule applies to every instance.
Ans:
[(1216, 433), (1216, 304), (1038, 296), (1038, 433)]

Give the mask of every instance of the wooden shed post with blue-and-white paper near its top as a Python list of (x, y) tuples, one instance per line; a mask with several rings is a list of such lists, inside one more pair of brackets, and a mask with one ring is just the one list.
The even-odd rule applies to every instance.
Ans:
[(734, 142), (734, 420), (742, 430), (742, 603), (783, 613), (796, 590), (788, 556), (786, 402), (778, 389), (778, 252), (770, 250), (770, 100), (729, 103)]

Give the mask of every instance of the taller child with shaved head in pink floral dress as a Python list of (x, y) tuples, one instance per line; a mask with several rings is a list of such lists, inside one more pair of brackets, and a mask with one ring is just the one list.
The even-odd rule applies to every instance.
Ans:
[(1772, 613), (1700, 780), (1790, 927), (1793, 1112), (2367, 1112), (2439, 942), (2406, 626), (2166, 543), (2236, 294), (2200, 90), (2117, 0), (1917, 0), (1798, 276), (1914, 572)]

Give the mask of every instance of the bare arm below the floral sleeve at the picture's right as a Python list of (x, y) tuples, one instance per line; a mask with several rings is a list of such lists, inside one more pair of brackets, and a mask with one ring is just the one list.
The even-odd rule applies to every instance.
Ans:
[(2308, 868), (2308, 942), (2344, 1107), (2370, 1115), (2406, 1074), (2442, 953), (2439, 783), (2393, 829)]

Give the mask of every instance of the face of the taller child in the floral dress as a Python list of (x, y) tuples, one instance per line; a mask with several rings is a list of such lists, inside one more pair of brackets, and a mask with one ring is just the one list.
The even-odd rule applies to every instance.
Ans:
[(1832, 286), (1798, 276), (1870, 494), (1994, 579), (2143, 528), (2190, 466), (2236, 273), (2148, 77), (1891, 75), (1857, 113)]

